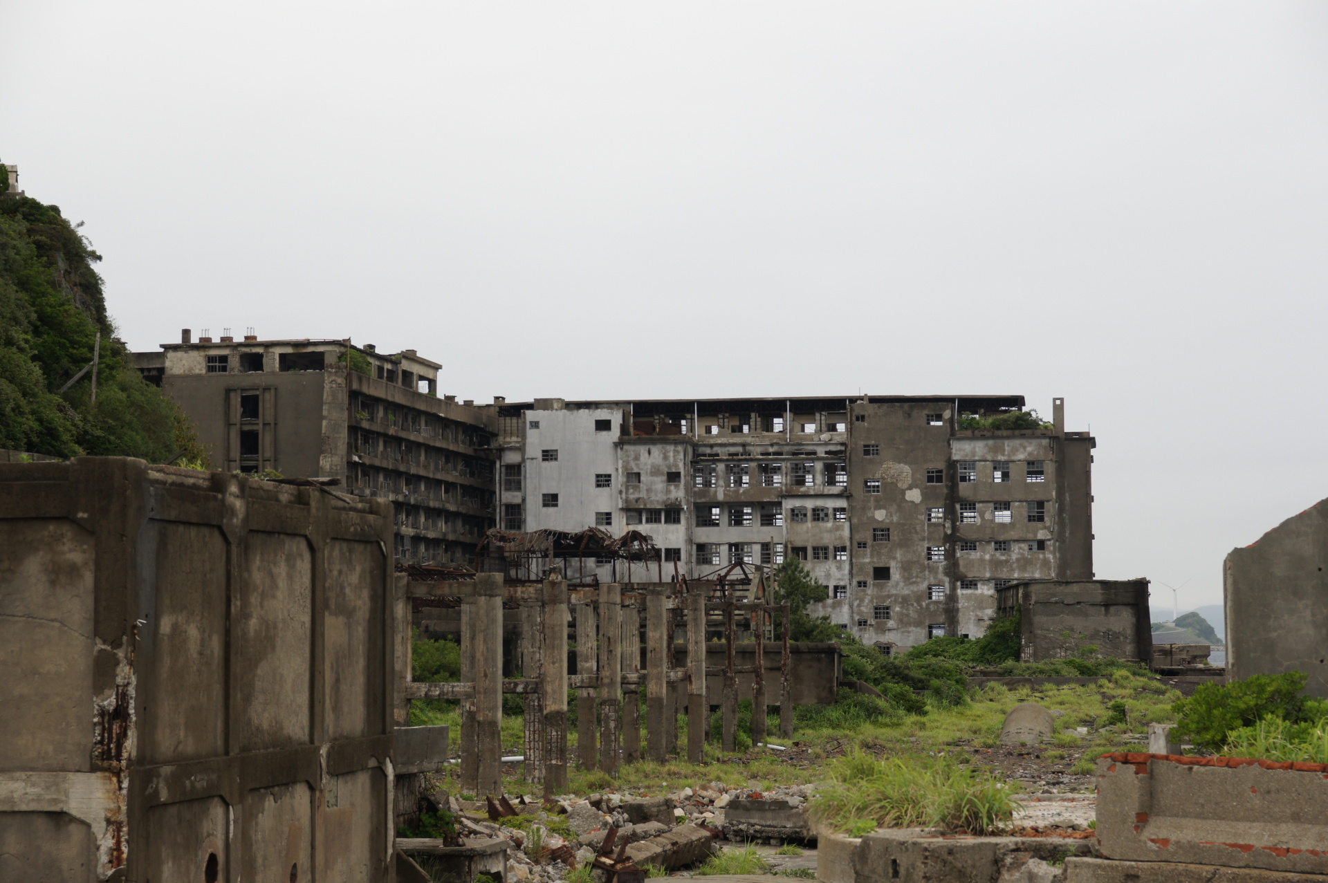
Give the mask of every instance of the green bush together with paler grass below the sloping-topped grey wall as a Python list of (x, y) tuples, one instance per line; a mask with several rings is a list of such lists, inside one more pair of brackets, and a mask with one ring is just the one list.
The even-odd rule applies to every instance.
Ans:
[(1328, 700), (1301, 696), (1307, 680), (1304, 672), (1284, 672), (1202, 684), (1175, 704), (1174, 734), (1210, 752), (1315, 760), (1328, 750)]

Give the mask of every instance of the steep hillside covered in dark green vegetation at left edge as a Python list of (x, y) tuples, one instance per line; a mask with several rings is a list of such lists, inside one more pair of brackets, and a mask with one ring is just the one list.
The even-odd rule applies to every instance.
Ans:
[[(0, 447), (206, 466), (193, 424), (114, 339), (98, 260), (58, 207), (0, 199)], [(60, 389), (93, 361), (98, 332), (93, 404), (90, 370)]]

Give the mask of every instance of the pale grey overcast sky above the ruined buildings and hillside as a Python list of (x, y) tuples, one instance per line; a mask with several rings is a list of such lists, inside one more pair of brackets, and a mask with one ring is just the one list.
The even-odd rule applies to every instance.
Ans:
[(11, 3), (0, 158), (138, 349), (349, 336), (477, 401), (1065, 396), (1098, 575), (1185, 607), (1328, 495), (1325, 37), (1271, 0)]

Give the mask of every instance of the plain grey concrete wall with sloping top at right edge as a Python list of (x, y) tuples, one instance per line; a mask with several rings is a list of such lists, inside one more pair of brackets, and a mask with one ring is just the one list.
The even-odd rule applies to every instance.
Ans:
[(1227, 675), (1309, 675), (1328, 696), (1328, 506), (1320, 501), (1282, 522), (1223, 566)]

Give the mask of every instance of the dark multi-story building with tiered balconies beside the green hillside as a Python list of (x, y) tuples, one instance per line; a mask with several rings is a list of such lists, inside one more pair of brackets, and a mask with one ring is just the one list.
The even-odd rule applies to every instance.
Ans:
[(396, 556), (473, 563), (494, 526), (493, 409), (437, 396), (437, 362), (349, 340), (242, 340), (186, 329), (135, 353), (198, 426), (216, 469), (336, 478), (396, 506)]

